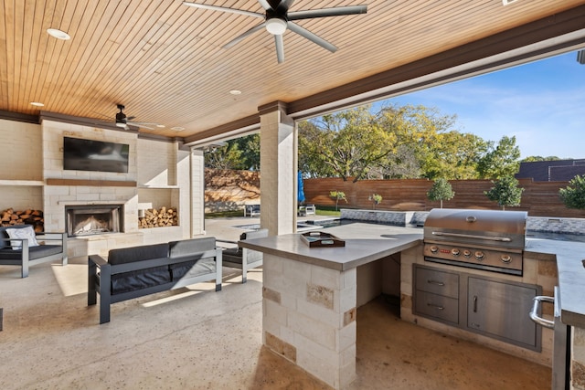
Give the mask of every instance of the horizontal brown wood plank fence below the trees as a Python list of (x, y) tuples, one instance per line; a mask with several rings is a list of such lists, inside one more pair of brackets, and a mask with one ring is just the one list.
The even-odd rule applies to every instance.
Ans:
[[(237, 210), (245, 204), (260, 204), (260, 174), (250, 171), (228, 171), (206, 169), (205, 201), (207, 211)], [(567, 208), (558, 197), (558, 190), (569, 182), (533, 182), (520, 179), (524, 188), (522, 202), (509, 210), (527, 211), (529, 216), (585, 217), (585, 210)], [(335, 206), (329, 197), (331, 191), (346, 193), (347, 202), (341, 200), (340, 208), (372, 209), (368, 200), (372, 194), (382, 196), (378, 210), (428, 211), (440, 207), (440, 202), (431, 202), (427, 192), (432, 181), (426, 179), (361, 180), (344, 182), (338, 178), (304, 179), (305, 204)], [(444, 201), (443, 207), (484, 208), (497, 210), (500, 207), (484, 195), (494, 184), (490, 180), (450, 181), (455, 196)]]

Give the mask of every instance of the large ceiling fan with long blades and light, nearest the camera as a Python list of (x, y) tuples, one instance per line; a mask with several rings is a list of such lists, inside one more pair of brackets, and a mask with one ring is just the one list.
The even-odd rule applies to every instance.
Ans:
[(226, 6), (219, 5), (206, 5), (200, 3), (183, 2), (184, 5), (194, 6), (197, 8), (211, 9), (214, 11), (230, 12), (233, 14), (240, 14), (246, 16), (259, 17), (264, 21), (257, 26), (251, 27), (248, 31), (241, 34), (239, 37), (235, 37), (223, 48), (229, 48), (246, 37), (260, 31), (262, 28), (274, 36), (274, 43), (276, 45), (276, 58), (278, 63), (284, 61), (284, 44), (282, 43), (282, 34), (288, 29), (293, 31), (302, 37), (309, 39), (320, 47), (324, 47), (327, 50), (335, 53), (337, 47), (327, 42), (322, 37), (316, 36), (311, 31), (303, 28), (302, 26), (294, 23), (295, 20), (313, 19), (315, 17), (326, 17), (326, 16), (344, 16), (344, 15), (356, 15), (366, 14), (367, 5), (348, 5), (348, 6), (336, 6), (333, 8), (322, 8), (322, 9), (311, 9), (305, 11), (293, 11), (289, 12), (289, 8), (293, 5), (294, 0), (258, 0), (262, 8), (266, 11), (266, 14), (259, 14), (256, 12), (245, 11), (237, 8), (229, 8)]

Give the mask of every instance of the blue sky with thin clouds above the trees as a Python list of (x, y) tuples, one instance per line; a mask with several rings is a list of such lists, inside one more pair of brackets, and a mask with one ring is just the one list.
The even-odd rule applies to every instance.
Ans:
[(585, 159), (585, 65), (577, 62), (577, 52), (383, 102), (455, 114), (454, 130), (495, 144), (516, 136), (521, 158)]

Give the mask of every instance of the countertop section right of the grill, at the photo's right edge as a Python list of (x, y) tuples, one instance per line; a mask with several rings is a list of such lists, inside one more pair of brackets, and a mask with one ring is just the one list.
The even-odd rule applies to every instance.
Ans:
[(560, 321), (585, 329), (585, 243), (530, 238), (525, 252), (557, 259)]

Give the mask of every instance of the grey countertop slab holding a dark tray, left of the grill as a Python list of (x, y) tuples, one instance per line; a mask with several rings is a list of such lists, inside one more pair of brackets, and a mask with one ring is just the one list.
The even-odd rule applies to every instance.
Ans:
[(351, 228), (329, 227), (320, 231), (344, 239), (346, 246), (309, 248), (298, 233), (239, 241), (239, 246), (342, 271), (416, 247), (422, 241), (422, 230), (416, 228), (356, 223)]

